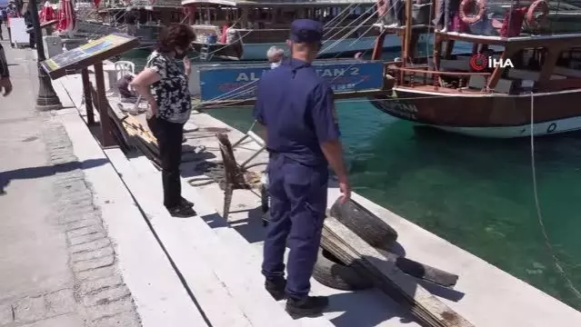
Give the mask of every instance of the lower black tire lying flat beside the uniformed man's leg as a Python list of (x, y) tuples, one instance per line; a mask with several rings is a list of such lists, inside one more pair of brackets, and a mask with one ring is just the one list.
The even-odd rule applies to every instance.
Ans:
[(335, 255), (319, 248), (313, 278), (325, 286), (342, 291), (366, 290), (373, 287), (373, 282), (361, 276), (356, 269), (341, 263)]

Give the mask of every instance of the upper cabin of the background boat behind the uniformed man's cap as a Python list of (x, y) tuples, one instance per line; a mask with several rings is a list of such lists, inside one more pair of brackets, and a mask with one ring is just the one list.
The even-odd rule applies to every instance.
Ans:
[[(184, 0), (184, 10), (189, 23), (194, 27), (197, 43), (232, 44), (238, 40), (249, 44), (281, 43), (288, 37), (289, 26), (297, 18), (310, 18), (327, 23), (336, 19), (337, 34), (345, 35), (346, 25), (360, 25), (366, 18), (375, 14), (375, 0), (362, 0), (357, 3), (341, 0), (318, 1), (238, 1), (238, 0)], [(352, 9), (345, 14), (344, 9)], [(360, 26), (365, 33), (374, 21)], [(230, 28), (233, 37), (227, 37)], [(357, 31), (358, 32), (358, 31)], [(357, 33), (356, 32), (356, 33)], [(209, 39), (208, 39), (209, 37)]]

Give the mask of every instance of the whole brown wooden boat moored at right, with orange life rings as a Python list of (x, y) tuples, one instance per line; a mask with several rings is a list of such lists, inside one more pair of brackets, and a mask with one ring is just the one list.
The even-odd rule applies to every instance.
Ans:
[[(466, 2), (470, 0), (463, 0)], [(542, 6), (542, 1), (532, 5), (539, 4)], [(518, 10), (535, 12), (532, 5)], [(508, 15), (516, 14), (508, 11)], [(436, 37), (429, 58), (416, 57), (417, 32), (406, 23), (397, 31), (405, 40), (404, 60), (386, 67), (393, 94), (371, 96), (372, 103), (401, 119), (481, 137), (512, 138), (581, 129), (581, 107), (575, 105), (581, 101), (581, 34), (545, 34), (542, 15), (541, 21), (530, 15), (534, 20), (527, 23), (529, 29), (536, 26), (536, 35), (521, 33), (522, 21), (518, 20), (512, 31), (505, 29), (501, 35), (438, 32), (435, 26), (424, 26)], [(384, 28), (382, 34), (386, 33), (389, 30)], [(472, 45), (472, 52), (453, 54), (459, 42)], [(491, 51), (492, 46), (502, 51)], [(376, 58), (380, 52), (378, 47)]]

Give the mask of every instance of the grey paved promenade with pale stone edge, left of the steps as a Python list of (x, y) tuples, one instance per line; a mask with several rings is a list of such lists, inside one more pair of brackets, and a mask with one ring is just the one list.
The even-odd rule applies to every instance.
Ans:
[(36, 112), (35, 54), (3, 45), (0, 326), (207, 326), (76, 109)]

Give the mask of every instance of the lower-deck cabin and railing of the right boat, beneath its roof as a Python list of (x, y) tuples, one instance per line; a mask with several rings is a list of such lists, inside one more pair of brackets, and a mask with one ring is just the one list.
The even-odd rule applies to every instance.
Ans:
[[(454, 54), (456, 43), (473, 52)], [(493, 48), (503, 47), (502, 51)], [(440, 50), (442, 49), (442, 50)], [(387, 74), (398, 88), (440, 93), (525, 94), (581, 88), (581, 34), (485, 39), (438, 35), (433, 56), (397, 62)]]

